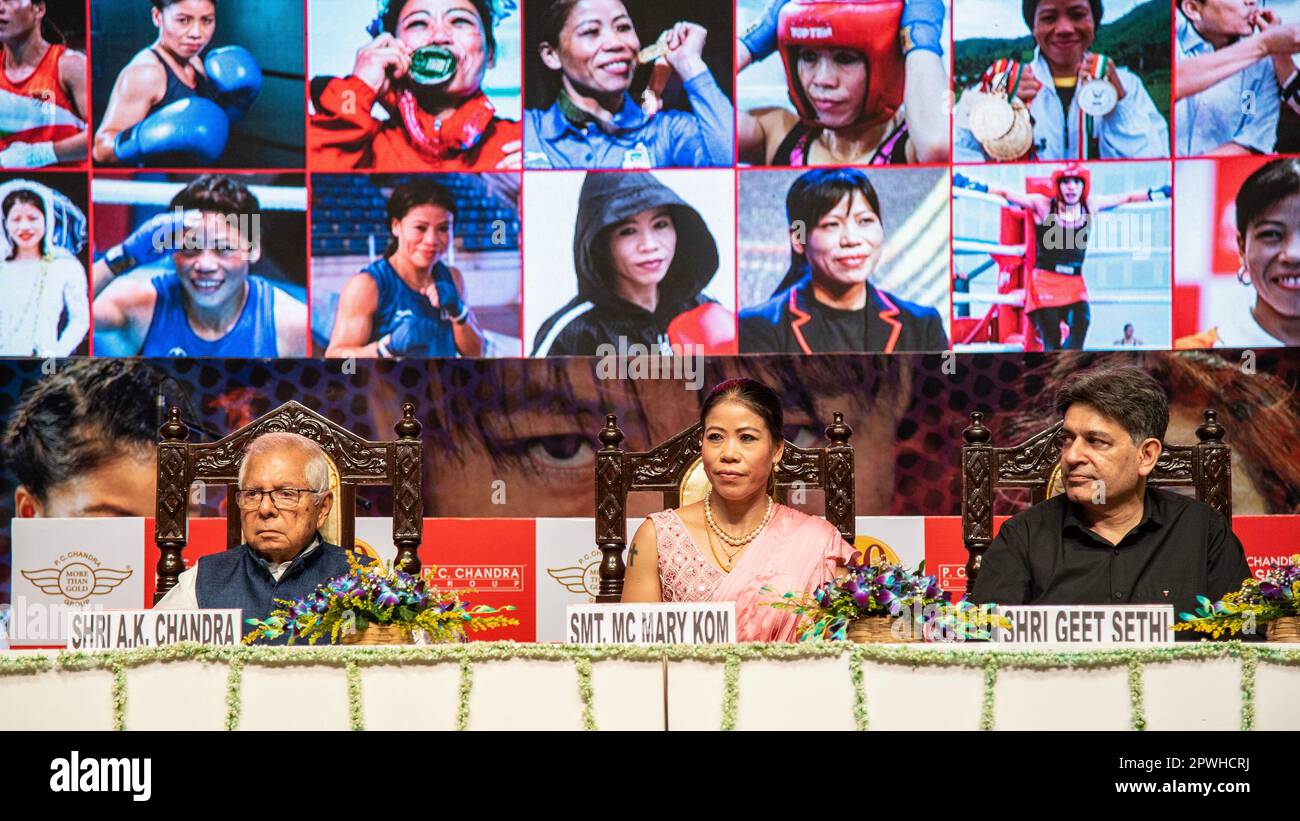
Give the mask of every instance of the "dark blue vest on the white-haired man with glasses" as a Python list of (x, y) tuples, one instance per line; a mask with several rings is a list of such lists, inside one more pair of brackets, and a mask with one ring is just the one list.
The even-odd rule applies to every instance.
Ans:
[[(265, 620), (281, 607), (274, 599), (300, 599), (324, 582), (347, 573), (347, 551), (321, 540), (309, 553), (299, 553), (277, 582), (266, 561), (251, 547), (239, 547), (199, 559), (195, 595), (202, 608), (239, 608), (243, 618)], [(247, 624), (244, 635), (252, 631)], [(287, 635), (274, 644), (283, 644)]]

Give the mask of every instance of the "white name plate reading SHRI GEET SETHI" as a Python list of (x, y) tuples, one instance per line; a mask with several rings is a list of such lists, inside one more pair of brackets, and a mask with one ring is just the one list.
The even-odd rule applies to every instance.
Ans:
[(994, 611), (1010, 630), (993, 631), (994, 642), (1013, 644), (1173, 644), (1173, 604), (1023, 604)]

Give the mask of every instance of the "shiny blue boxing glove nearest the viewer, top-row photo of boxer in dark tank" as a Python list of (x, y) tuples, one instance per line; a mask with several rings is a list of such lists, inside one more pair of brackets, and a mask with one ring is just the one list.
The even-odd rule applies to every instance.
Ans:
[(122, 162), (179, 155), (190, 164), (213, 165), (226, 149), (230, 120), (205, 97), (186, 97), (166, 105), (117, 135), (113, 153)]

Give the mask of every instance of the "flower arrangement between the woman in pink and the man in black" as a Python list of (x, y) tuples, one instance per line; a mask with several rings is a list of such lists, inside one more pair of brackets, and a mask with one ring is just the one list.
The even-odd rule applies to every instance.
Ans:
[[(872, 617), (894, 618), (892, 630), (902, 634), (898, 638), (915, 635), (924, 640), (989, 639), (993, 627), (1010, 627), (1006, 618), (992, 613), (992, 604), (953, 601), (936, 577), (924, 574), (924, 561), (915, 573), (902, 564), (864, 562), (864, 553), (855, 551), (838, 561), (842, 573), (811, 595), (785, 592), (767, 604), (801, 618), (801, 642), (844, 642), (854, 621)], [(774, 591), (763, 587), (763, 592)]]

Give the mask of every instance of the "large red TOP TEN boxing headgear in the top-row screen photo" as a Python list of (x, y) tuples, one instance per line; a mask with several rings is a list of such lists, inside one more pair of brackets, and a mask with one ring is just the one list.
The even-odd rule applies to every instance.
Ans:
[(867, 96), (854, 125), (884, 122), (902, 105), (904, 57), (898, 22), (904, 0), (792, 0), (781, 9), (776, 42), (785, 83), (800, 117), (818, 122), (800, 82), (801, 48), (846, 48), (867, 61)]

